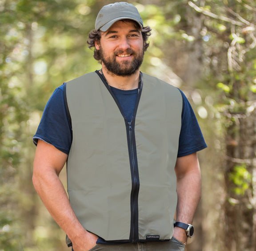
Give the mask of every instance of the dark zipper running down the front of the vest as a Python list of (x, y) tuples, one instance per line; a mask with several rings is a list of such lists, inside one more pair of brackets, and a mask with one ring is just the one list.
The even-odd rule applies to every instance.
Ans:
[(139, 223), (138, 223), (138, 196), (140, 189), (140, 179), (138, 164), (136, 161), (136, 147), (135, 147), (135, 134), (132, 127), (132, 122), (128, 122), (129, 139), (128, 148), (131, 162), (131, 177), (132, 177), (132, 191), (131, 191), (131, 229), (130, 241), (137, 242), (139, 240)]

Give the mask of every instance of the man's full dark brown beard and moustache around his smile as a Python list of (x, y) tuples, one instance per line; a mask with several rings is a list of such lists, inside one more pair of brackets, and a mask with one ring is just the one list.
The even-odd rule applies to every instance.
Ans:
[(144, 50), (136, 53), (132, 49), (127, 49), (125, 53), (132, 54), (134, 59), (132, 61), (124, 60), (122, 62), (116, 61), (116, 55), (124, 53), (123, 51), (117, 51), (114, 52), (112, 56), (106, 56), (100, 47), (99, 52), (101, 61), (104, 63), (108, 72), (116, 76), (131, 76), (140, 68), (144, 58)]

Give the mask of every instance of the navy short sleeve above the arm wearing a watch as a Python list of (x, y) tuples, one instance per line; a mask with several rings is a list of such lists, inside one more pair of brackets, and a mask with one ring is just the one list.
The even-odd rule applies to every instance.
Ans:
[(179, 150), (177, 157), (186, 156), (207, 147), (196, 115), (182, 91), (183, 110), (179, 138)]

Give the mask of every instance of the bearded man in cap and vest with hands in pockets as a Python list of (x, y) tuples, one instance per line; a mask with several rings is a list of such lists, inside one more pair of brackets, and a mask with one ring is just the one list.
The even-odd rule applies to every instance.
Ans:
[(33, 138), (34, 186), (74, 251), (184, 250), (193, 235), (206, 144), (184, 94), (140, 72), (149, 35), (132, 4), (104, 6), (88, 40), (102, 69), (57, 88)]

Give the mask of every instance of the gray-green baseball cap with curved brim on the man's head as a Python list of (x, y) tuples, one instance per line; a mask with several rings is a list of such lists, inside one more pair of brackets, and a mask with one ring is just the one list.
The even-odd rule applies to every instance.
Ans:
[(130, 19), (136, 21), (143, 28), (143, 21), (137, 8), (125, 2), (108, 4), (101, 8), (95, 22), (95, 29), (107, 31), (118, 20)]

